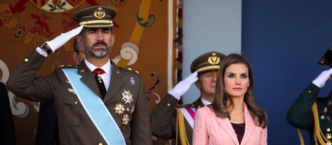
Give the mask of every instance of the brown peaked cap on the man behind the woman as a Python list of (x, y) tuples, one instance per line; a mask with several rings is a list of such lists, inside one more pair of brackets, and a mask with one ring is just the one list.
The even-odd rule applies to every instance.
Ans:
[(210, 70), (218, 70), (221, 61), (223, 61), (225, 57), (225, 54), (217, 51), (203, 53), (191, 63), (190, 71), (191, 73), (194, 73), (195, 71), (201, 73)]

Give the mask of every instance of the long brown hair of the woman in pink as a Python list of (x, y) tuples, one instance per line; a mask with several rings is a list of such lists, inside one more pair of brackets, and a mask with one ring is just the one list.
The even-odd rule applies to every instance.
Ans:
[(220, 118), (230, 118), (230, 112), (228, 109), (234, 106), (234, 102), (232, 101), (230, 94), (226, 92), (223, 80), (225, 77), (224, 75), (226, 68), (232, 64), (237, 63), (246, 65), (249, 73), (250, 85), (247, 89), (247, 92), (244, 94), (244, 102), (247, 104), (250, 115), (254, 118), (257, 125), (265, 128), (268, 119), (266, 113), (258, 106), (254, 98), (254, 75), (251, 64), (247, 58), (237, 53), (231, 53), (230, 55), (226, 56), (226, 58), (220, 64), (217, 75), (218, 77), (215, 84), (215, 99), (211, 104), (213, 111)]

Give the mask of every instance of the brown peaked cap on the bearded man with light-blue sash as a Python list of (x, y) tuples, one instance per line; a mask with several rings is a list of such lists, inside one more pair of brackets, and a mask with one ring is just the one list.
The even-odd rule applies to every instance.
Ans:
[(73, 15), (73, 19), (84, 27), (114, 27), (113, 19), (117, 11), (108, 6), (90, 6)]

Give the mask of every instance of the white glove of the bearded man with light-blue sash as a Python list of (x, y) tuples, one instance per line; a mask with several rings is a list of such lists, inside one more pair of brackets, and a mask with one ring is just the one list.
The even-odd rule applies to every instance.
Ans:
[(49, 46), (50, 49), (52, 49), (52, 52), (55, 52), (62, 45), (68, 42), (69, 39), (79, 34), (82, 29), (83, 25), (81, 25), (80, 27), (76, 27), (75, 29), (70, 30), (69, 32), (61, 33), (58, 37), (55, 37), (51, 41), (45, 43)]

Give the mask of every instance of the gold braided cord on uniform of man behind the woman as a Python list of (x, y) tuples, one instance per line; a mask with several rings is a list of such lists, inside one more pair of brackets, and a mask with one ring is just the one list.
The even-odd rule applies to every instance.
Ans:
[(186, 138), (186, 127), (184, 126), (184, 116), (182, 112), (177, 108), (177, 138), (175, 144), (178, 144), (178, 137), (180, 137), (181, 144), (189, 144)]

